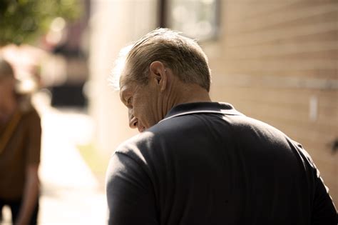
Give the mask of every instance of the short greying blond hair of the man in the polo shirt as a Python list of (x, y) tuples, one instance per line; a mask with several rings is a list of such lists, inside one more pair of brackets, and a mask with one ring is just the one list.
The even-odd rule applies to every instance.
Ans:
[(149, 66), (160, 61), (180, 81), (198, 84), (210, 91), (208, 58), (193, 39), (170, 29), (155, 29), (135, 42), (126, 55), (126, 79), (148, 84)]

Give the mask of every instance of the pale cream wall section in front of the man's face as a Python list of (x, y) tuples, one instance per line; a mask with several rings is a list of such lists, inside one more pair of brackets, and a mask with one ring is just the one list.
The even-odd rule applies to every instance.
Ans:
[(95, 144), (110, 154), (136, 131), (129, 129), (126, 106), (109, 86), (108, 77), (121, 48), (155, 29), (156, 4), (155, 0), (94, 0), (92, 4), (89, 113), (97, 126)]

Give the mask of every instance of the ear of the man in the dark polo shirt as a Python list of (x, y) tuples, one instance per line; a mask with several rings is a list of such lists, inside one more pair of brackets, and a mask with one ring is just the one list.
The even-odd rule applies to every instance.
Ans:
[(160, 61), (153, 61), (150, 66), (150, 79), (155, 81), (155, 84), (160, 86), (160, 91), (164, 91), (167, 87), (167, 71), (165, 70), (165, 66)]

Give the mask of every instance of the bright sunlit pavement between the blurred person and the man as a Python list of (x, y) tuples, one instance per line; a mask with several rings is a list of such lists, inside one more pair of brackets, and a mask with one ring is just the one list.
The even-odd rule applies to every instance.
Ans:
[(76, 149), (91, 141), (93, 121), (79, 111), (53, 109), (45, 100), (36, 99), (43, 126), (39, 224), (106, 224), (106, 196)]

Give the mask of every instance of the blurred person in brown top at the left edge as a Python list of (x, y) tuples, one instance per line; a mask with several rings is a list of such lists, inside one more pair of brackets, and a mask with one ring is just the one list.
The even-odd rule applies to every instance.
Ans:
[(13, 224), (36, 224), (41, 121), (28, 94), (19, 94), (11, 65), (0, 58), (0, 221), (3, 206)]

